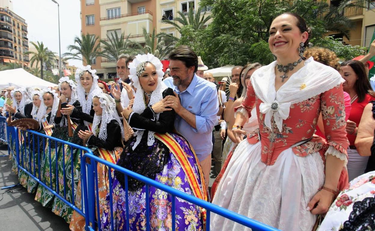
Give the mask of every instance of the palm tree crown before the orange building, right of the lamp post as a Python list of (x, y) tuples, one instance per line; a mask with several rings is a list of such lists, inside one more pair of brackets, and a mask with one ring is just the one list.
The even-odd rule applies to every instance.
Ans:
[(95, 37), (87, 33), (81, 34), (81, 37), (74, 37), (74, 45), (69, 45), (68, 50), (63, 54), (66, 59), (81, 60), (87, 65), (92, 64), (92, 60), (101, 54), (100, 43), (96, 44), (99, 37)]

